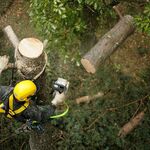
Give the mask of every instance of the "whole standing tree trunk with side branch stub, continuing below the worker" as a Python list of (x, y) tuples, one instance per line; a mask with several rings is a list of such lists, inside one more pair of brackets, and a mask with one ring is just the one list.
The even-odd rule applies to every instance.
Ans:
[[(43, 51), (43, 48), (47, 41), (43, 44), (38, 39), (25, 38), (19, 42), (11, 26), (5, 28), (4, 32), (15, 48), (15, 66), (19, 74), (24, 79), (36, 80), (36, 83), (40, 86), (38, 99), (46, 102), (49, 100), (45, 92), (47, 90), (47, 84), (44, 73), (47, 55)], [(50, 124), (45, 126), (45, 132), (43, 134), (32, 132), (29, 140), (31, 150), (52, 149), (52, 132), (54, 132), (54, 129), (52, 129)]]

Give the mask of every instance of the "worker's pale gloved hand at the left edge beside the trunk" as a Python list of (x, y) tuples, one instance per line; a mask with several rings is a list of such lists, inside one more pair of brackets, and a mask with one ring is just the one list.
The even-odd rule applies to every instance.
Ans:
[(4, 55), (0, 56), (0, 73), (7, 68), (7, 64), (9, 62), (9, 57)]

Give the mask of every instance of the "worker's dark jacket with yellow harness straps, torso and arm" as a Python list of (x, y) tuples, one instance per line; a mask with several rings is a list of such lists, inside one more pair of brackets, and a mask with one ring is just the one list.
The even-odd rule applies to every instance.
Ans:
[(0, 113), (20, 122), (34, 120), (45, 122), (54, 114), (55, 107), (51, 105), (38, 106), (33, 101), (18, 102), (12, 95), (13, 87), (0, 86)]

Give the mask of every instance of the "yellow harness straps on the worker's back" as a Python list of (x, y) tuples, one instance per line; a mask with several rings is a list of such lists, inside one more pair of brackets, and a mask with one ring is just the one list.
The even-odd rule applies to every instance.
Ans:
[(0, 104), (0, 113), (6, 114), (6, 116), (8, 118), (13, 118), (13, 117), (15, 117), (15, 115), (23, 112), (28, 106), (29, 106), (29, 101), (25, 101), (25, 103), (23, 105), (21, 105), (21, 107), (19, 107), (18, 109), (15, 109), (14, 108), (14, 98), (13, 98), (13, 94), (12, 94), (9, 97), (7, 109), (5, 108), (4, 103)]

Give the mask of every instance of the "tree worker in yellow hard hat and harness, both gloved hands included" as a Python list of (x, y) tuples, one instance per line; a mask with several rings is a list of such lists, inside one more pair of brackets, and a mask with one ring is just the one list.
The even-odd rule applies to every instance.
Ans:
[[(7, 68), (8, 57), (0, 57), (0, 74)], [(69, 82), (65, 79), (58, 78), (54, 83), (54, 99), (52, 105), (39, 106), (34, 102), (37, 92), (37, 86), (31, 80), (23, 80), (14, 87), (0, 86), (0, 112), (4, 113), (7, 118), (15, 119), (19, 122), (32, 122), (37, 124), (44, 123), (54, 116), (56, 107), (63, 103), (68, 90)], [(34, 126), (35, 127), (35, 126)]]

